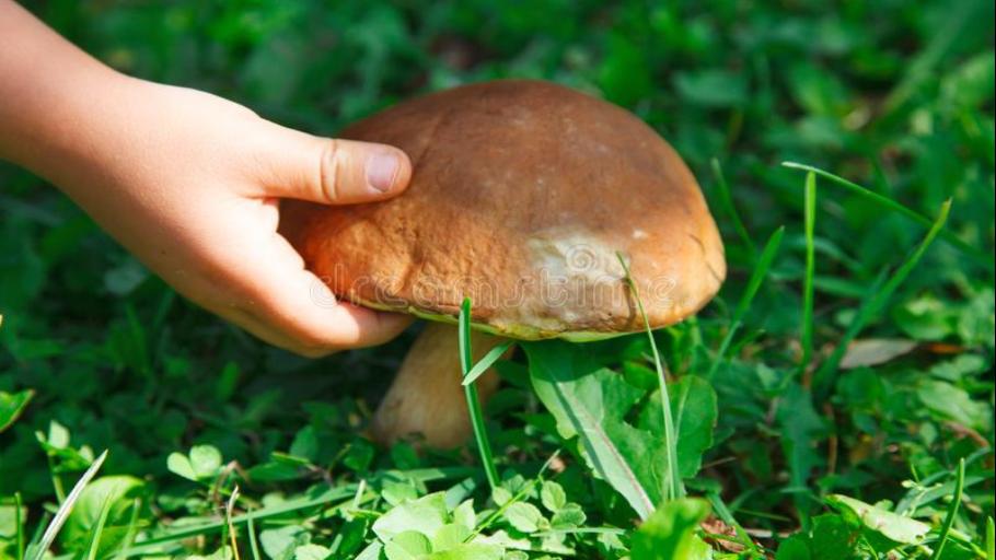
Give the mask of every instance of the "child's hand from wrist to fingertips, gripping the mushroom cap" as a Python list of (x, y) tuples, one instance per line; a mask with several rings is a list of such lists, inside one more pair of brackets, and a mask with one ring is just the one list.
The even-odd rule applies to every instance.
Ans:
[[(118, 126), (67, 190), (182, 294), (303, 354), (383, 342), (401, 315), (332, 304), (277, 234), (278, 199), (327, 205), (405, 188), (397, 149), (290, 130), (198, 91), (130, 81)], [(134, 88), (134, 91), (129, 91)]]

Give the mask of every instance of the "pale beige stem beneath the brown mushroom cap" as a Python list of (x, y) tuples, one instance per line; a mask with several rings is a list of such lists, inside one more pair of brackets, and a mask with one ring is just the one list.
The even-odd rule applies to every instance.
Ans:
[[(480, 360), (499, 342), (498, 337), (472, 331), (474, 360)], [(374, 440), (392, 444), (421, 434), (424, 443), (436, 448), (455, 447), (466, 441), (471, 419), (461, 384), (459, 347), (455, 325), (426, 325), (374, 413)], [(482, 401), (486, 401), (498, 387), (498, 376), (488, 371), (475, 383)]]

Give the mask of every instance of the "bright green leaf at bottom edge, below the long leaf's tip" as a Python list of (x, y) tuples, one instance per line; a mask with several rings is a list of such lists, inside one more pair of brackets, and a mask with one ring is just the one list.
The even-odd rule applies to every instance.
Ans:
[(706, 560), (711, 549), (698, 535), (709, 515), (704, 500), (683, 498), (662, 505), (633, 535), (633, 560)]

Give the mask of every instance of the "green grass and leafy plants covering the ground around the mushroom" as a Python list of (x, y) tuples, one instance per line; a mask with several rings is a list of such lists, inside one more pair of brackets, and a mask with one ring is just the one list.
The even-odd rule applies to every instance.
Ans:
[[(729, 273), (652, 339), (463, 355), (471, 389), (502, 377), (475, 441), (381, 450), (363, 430), (414, 331), (268, 348), (0, 166), (0, 559), (996, 560), (992, 2), (30, 8), (127, 72), (315, 133), (475, 80), (601, 95), (688, 163)], [(547, 409), (554, 365), (600, 417)], [(668, 501), (645, 467), (675, 462), (688, 498)]]

